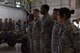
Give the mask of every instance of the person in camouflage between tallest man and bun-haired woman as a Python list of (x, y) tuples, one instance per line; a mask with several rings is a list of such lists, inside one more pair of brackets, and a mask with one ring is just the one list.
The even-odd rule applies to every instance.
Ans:
[(53, 21), (55, 21), (55, 25), (53, 26), (52, 37), (51, 37), (52, 53), (57, 53), (57, 50), (58, 50), (58, 39), (59, 39), (58, 38), (58, 31), (60, 28), (60, 24), (57, 21), (58, 13), (59, 13), (58, 8), (53, 9), (52, 19), (53, 19)]

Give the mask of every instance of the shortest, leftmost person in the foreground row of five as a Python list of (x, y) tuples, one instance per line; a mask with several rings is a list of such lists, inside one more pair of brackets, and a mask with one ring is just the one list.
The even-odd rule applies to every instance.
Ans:
[(32, 39), (32, 30), (34, 25), (34, 17), (33, 15), (29, 15), (29, 21), (28, 21), (28, 39), (30, 43), (30, 53), (33, 53), (33, 39)]

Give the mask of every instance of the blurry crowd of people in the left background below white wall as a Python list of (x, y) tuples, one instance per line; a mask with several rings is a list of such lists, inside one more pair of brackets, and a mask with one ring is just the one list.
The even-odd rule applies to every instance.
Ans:
[(0, 32), (1, 31), (26, 31), (27, 23), (26, 21), (22, 22), (21, 20), (12, 20), (11, 18), (5, 18), (4, 22), (0, 19)]

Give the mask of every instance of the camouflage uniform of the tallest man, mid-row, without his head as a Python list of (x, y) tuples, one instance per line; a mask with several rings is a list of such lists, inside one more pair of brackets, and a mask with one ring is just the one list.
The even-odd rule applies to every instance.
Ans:
[(51, 33), (53, 21), (51, 16), (47, 14), (41, 20), (41, 53), (51, 53)]

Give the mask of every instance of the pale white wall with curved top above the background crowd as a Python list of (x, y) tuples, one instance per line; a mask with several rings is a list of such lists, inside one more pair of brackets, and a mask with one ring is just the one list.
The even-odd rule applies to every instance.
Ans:
[(22, 9), (0, 6), (0, 18), (12, 18), (13, 20), (26, 20), (26, 13)]

